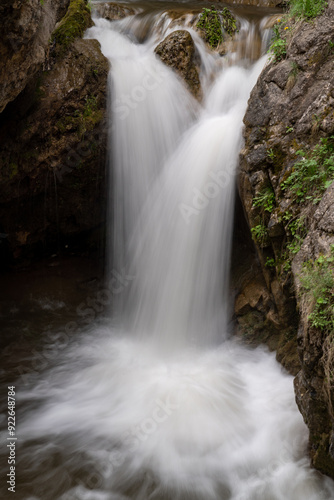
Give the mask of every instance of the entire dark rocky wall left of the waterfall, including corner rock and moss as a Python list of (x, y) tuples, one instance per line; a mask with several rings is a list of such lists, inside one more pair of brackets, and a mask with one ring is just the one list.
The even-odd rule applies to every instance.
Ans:
[(0, 74), (6, 266), (71, 252), (83, 240), (87, 248), (103, 226), (109, 63), (96, 40), (82, 39), (92, 25), (86, 1), (18, 1), (1, 9), (7, 23)]

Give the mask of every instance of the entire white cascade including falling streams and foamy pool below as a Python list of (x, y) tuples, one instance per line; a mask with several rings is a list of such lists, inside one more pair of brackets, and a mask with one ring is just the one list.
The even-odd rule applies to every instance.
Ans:
[(116, 325), (87, 328), (20, 394), (18, 498), (334, 499), (332, 481), (309, 468), (291, 377), (228, 337), (235, 169), (265, 59), (227, 58), (209, 89), (220, 61), (207, 54), (200, 107), (152, 38), (131, 41), (131, 20), (95, 22), (87, 36), (112, 68), (124, 300)]

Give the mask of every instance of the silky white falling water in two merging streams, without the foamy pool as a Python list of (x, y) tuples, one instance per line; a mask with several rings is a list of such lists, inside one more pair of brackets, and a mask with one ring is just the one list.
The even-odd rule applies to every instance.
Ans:
[[(264, 60), (250, 68), (243, 62), (225, 67), (199, 109), (154, 56), (151, 41), (135, 45), (123, 36), (118, 52), (124, 26), (138, 30), (134, 20), (119, 22), (119, 31), (104, 20), (96, 25), (89, 36), (100, 40), (112, 65), (110, 256), (116, 269), (134, 276), (122, 311), (126, 328), (164, 351), (217, 343), (227, 337), (230, 316), (242, 118)], [(247, 26), (251, 36), (253, 27), (242, 26), (240, 38)], [(167, 24), (165, 34), (170, 31)], [(194, 39), (202, 58), (213, 59), (197, 34)]]

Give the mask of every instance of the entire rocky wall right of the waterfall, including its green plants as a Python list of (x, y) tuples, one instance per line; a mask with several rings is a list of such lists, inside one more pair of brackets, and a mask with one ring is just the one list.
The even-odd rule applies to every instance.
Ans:
[(262, 340), (264, 325), (290, 339), (292, 354), (298, 346), (292, 372), (310, 456), (334, 478), (334, 2), (311, 22), (283, 18), (280, 30), (285, 53), (251, 94), (239, 174), (266, 298), (251, 304), (241, 292), (236, 313), (246, 337)]

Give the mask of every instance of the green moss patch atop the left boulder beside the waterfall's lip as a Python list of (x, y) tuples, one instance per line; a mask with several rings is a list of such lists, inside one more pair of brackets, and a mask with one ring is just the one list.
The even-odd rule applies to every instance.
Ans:
[(56, 55), (64, 56), (76, 38), (82, 38), (92, 25), (90, 9), (86, 0), (71, 0), (66, 15), (51, 36)]

